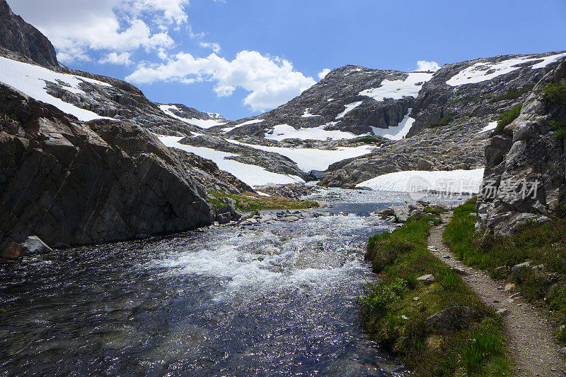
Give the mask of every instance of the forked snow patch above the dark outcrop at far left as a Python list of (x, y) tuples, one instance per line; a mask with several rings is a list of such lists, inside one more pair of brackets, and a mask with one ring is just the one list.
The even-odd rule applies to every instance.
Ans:
[(25, 95), (33, 99), (47, 104), (52, 104), (62, 112), (76, 116), (80, 121), (91, 121), (93, 119), (111, 119), (105, 116), (100, 116), (94, 112), (90, 112), (80, 107), (74, 106), (53, 97), (47, 93), (45, 89), (45, 81), (52, 83), (59, 83), (64, 85), (66, 90), (75, 94), (85, 93), (79, 88), (79, 84), (83, 82), (93, 83), (102, 86), (112, 86), (102, 81), (93, 80), (92, 78), (85, 78), (81, 76), (68, 75), (66, 73), (56, 73), (41, 66), (33, 64), (22, 63), (0, 57), (0, 82), (16, 88), (23, 92)]

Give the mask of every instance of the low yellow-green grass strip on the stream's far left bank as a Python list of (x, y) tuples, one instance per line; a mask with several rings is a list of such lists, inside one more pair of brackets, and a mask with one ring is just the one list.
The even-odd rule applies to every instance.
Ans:
[(319, 204), (315, 201), (296, 201), (279, 196), (260, 196), (257, 193), (245, 191), (241, 194), (225, 193), (223, 191), (209, 191), (209, 201), (216, 205), (216, 208), (222, 208), (226, 204), (219, 201), (219, 198), (231, 198), (236, 201), (236, 208), (243, 212), (251, 212), (257, 210), (304, 210), (306, 208), (318, 208)]

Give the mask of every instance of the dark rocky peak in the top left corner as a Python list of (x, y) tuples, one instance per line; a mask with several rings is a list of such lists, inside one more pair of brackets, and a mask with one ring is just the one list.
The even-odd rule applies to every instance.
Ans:
[(13, 14), (6, 0), (0, 0), (0, 46), (27, 56), (42, 66), (59, 66), (50, 40)]

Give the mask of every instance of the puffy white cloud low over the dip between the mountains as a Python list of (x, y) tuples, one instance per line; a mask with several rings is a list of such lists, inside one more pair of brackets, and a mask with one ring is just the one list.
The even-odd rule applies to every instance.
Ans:
[(239, 52), (232, 61), (216, 54), (195, 58), (179, 53), (166, 64), (141, 64), (126, 79), (134, 83), (215, 81), (214, 91), (219, 97), (243, 88), (250, 92), (243, 102), (253, 111), (277, 107), (316, 83), (313, 78), (294, 71), (290, 61), (255, 51)]

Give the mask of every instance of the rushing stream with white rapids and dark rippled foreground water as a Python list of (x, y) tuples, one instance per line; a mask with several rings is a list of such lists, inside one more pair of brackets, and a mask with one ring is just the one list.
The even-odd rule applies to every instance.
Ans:
[(333, 208), (0, 265), (0, 376), (397, 375), (354, 300), (372, 212), (408, 198), (315, 199)]

